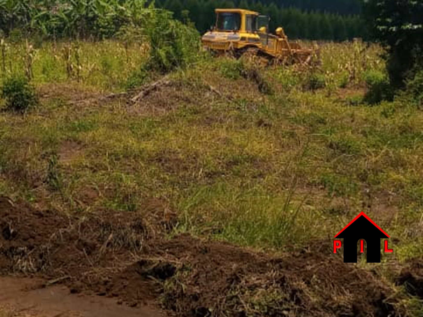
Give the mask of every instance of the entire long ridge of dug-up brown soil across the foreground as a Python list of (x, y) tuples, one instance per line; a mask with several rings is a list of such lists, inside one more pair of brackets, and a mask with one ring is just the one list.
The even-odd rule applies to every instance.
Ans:
[(180, 316), (395, 315), (390, 289), (334, 254), (271, 257), (190, 235), (167, 240), (169, 228), (152, 229), (148, 212), (66, 217), (3, 197), (0, 217), (1, 273), (47, 277), (72, 293), (129, 306), (159, 299)]

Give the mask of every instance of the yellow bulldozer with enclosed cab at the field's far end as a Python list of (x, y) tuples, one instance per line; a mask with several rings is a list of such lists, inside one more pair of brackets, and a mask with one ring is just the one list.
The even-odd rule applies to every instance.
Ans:
[(317, 49), (305, 49), (288, 41), (282, 27), (269, 33), (269, 17), (244, 9), (215, 9), (216, 24), (201, 38), (205, 49), (231, 53), (235, 57), (253, 54), (279, 63), (310, 63)]

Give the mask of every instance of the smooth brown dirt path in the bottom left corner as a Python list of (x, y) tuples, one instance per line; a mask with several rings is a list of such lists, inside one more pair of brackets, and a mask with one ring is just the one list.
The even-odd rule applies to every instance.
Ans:
[(165, 317), (153, 306), (131, 308), (115, 298), (71, 294), (63, 285), (39, 288), (42, 279), (0, 277), (0, 316)]

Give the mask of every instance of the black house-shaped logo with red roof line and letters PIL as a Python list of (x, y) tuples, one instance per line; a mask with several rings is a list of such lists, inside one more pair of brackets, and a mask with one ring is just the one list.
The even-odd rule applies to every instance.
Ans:
[[(357, 241), (360, 240), (360, 252), (364, 252), (364, 241), (367, 245), (367, 262), (380, 263), (380, 239), (390, 238), (377, 224), (365, 213), (361, 212), (352, 219), (335, 238), (343, 238), (344, 262), (357, 263)], [(333, 253), (341, 248), (341, 240), (333, 240)], [(385, 252), (393, 252), (388, 249), (388, 240), (385, 240)]]

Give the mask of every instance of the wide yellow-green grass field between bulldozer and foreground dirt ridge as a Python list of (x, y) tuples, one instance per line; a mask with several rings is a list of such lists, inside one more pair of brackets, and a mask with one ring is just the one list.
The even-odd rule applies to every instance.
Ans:
[[(363, 102), (385, 77), (378, 46), (323, 44), (308, 70), (203, 56), (131, 103), (109, 94), (159, 78), (142, 46), (82, 42), (68, 78), (66, 45), (34, 51), (38, 107), (0, 114), (0, 193), (72, 214), (158, 199), (169, 235), (277, 252), (330, 245), (364, 211), (391, 236), (382, 267), (423, 257), (423, 112)], [(7, 72), (25, 52), (8, 47)]]

